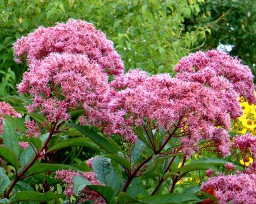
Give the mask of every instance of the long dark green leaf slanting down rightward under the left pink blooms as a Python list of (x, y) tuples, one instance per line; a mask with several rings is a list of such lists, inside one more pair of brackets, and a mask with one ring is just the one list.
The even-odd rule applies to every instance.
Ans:
[(77, 129), (77, 131), (82, 132), (84, 135), (89, 137), (94, 143), (98, 144), (100, 148), (102, 148), (104, 151), (109, 153), (117, 153), (118, 148), (113, 143), (110, 143), (106, 138), (101, 137), (101, 135), (97, 134), (93, 131), (93, 129), (90, 129), (87, 126), (80, 126), (79, 124), (75, 123), (68, 123), (68, 126), (74, 127)]

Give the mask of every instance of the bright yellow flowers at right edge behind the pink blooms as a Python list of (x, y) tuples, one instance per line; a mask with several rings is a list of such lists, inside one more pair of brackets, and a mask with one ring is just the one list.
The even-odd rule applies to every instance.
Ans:
[(231, 132), (236, 134), (246, 134), (251, 132), (256, 134), (256, 105), (248, 103), (241, 98), (241, 107), (243, 108), (243, 115), (235, 121), (231, 128)]

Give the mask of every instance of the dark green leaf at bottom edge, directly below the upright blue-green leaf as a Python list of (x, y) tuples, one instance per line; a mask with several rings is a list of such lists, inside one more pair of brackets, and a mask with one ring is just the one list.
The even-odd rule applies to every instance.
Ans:
[(108, 186), (100, 186), (100, 185), (88, 185), (88, 188), (93, 189), (94, 191), (101, 194), (107, 204), (115, 204), (115, 193), (114, 190)]

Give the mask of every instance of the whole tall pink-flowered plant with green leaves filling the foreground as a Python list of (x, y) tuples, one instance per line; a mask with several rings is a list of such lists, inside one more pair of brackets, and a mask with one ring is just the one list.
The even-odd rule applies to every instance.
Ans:
[[(79, 20), (40, 27), (18, 39), (14, 50), (15, 61), (28, 66), (17, 86), (28, 100), (26, 109), (16, 107), (20, 114), (2, 110), (0, 118), (3, 202), (230, 201), (208, 191), (207, 183), (202, 191), (180, 185), (195, 171), (220, 172), (230, 160), (230, 121), (242, 114), (238, 98), (256, 101), (252, 73), (240, 60), (209, 50), (180, 60), (174, 78), (140, 69), (124, 73), (113, 43)], [(249, 144), (241, 140), (235, 138), (231, 152), (246, 162)], [(57, 157), (76, 147), (94, 149), (94, 157), (75, 157), (69, 165)], [(255, 180), (254, 170), (240, 166), (241, 182)], [(224, 167), (233, 171), (230, 163)]]

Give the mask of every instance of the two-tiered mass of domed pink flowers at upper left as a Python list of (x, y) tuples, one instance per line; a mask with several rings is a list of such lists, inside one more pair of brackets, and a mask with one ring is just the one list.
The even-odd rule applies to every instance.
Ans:
[(84, 21), (40, 27), (14, 44), (16, 61), (26, 55), (29, 69), (18, 85), (30, 94), (30, 112), (39, 110), (50, 123), (67, 120), (70, 108), (90, 111), (108, 89), (108, 73), (123, 73), (113, 43)]

